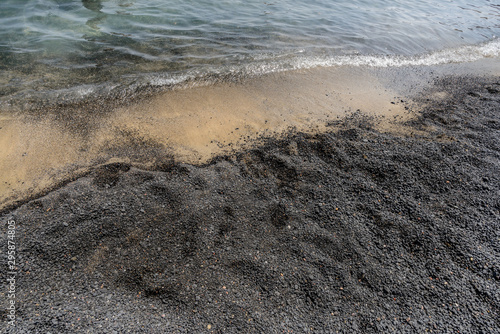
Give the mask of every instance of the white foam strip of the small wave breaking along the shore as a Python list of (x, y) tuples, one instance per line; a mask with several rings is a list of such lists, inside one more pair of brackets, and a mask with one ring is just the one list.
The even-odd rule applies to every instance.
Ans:
[[(403, 66), (432, 66), (449, 63), (465, 63), (483, 58), (500, 57), (500, 39), (479, 45), (468, 45), (459, 48), (444, 49), (417, 56), (401, 55), (343, 55), (317, 57), (306, 56), (303, 50), (291, 54), (273, 55), (261, 54), (254, 58), (253, 62), (244, 65), (232, 65), (215, 67), (211, 69), (193, 69), (186, 73), (156, 73), (145, 74), (142, 77), (131, 76), (129, 79), (134, 83), (128, 86), (134, 91), (142, 86), (152, 85), (156, 87), (196, 87), (210, 85), (217, 78), (233, 76), (234, 78), (256, 77), (268, 73), (279, 73), (290, 70), (310, 69), (315, 67), (337, 67), (337, 66), (367, 66), (367, 67), (403, 67)], [(100, 87), (99, 92), (109, 92), (116, 88)], [(88, 89), (88, 87), (85, 87)], [(95, 91), (95, 87), (94, 87)], [(80, 90), (82, 97), (88, 96), (91, 91)]]

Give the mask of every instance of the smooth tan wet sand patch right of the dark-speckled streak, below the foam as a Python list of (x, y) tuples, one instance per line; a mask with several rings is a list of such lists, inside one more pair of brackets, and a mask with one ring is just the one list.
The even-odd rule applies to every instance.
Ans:
[(412, 116), (392, 100), (366, 71), (316, 69), (168, 92), (118, 110), (112, 124), (172, 147), (179, 159), (192, 163), (265, 132), (322, 131), (326, 122), (357, 110), (391, 130), (394, 116), (399, 121)]

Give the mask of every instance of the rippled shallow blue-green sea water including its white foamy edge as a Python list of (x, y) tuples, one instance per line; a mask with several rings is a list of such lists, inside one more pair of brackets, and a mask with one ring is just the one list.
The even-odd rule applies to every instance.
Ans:
[(0, 25), (2, 100), (500, 54), (496, 0), (2, 0)]

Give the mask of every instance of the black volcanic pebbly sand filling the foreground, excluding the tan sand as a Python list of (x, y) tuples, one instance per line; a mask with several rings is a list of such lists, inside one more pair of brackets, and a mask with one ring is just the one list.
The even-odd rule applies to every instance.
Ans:
[(107, 165), (4, 213), (10, 332), (499, 333), (500, 80), (419, 102), (413, 135), (353, 115), (204, 166)]

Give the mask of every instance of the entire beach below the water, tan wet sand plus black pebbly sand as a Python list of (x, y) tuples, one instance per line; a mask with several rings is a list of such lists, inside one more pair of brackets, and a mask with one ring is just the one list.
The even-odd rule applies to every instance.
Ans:
[[(16, 326), (0, 332), (498, 332), (496, 64), (298, 73), (93, 118), (54, 107), (2, 153), (19, 168), (2, 176), (17, 269)], [(214, 110), (162, 113), (165, 99)], [(1, 144), (19, 123), (0, 121)]]

